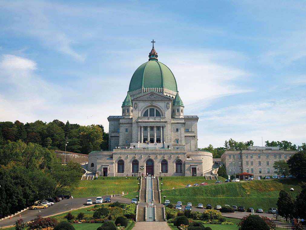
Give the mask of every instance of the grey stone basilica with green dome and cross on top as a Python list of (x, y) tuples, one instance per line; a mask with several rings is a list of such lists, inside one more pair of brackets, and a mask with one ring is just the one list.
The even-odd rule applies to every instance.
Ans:
[(199, 118), (184, 115), (175, 77), (152, 43), (149, 60), (132, 75), (121, 116), (107, 118), (109, 151), (88, 155), (88, 169), (98, 176), (203, 176), (212, 168), (212, 154), (197, 151)]

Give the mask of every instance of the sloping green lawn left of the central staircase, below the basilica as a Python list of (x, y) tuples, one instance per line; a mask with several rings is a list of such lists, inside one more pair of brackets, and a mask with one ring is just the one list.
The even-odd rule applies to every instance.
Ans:
[(138, 190), (137, 177), (107, 177), (103, 180), (82, 180), (79, 187), (72, 192), (74, 198), (105, 196), (106, 194), (121, 194), (121, 192), (130, 193)]

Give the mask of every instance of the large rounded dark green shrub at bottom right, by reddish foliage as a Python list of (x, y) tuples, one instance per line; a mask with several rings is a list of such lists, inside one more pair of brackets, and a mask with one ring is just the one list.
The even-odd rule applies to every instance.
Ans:
[(263, 220), (263, 218), (258, 215), (249, 215), (244, 217), (238, 224), (239, 230), (249, 230), (249, 229), (261, 229), (270, 230), (269, 226)]

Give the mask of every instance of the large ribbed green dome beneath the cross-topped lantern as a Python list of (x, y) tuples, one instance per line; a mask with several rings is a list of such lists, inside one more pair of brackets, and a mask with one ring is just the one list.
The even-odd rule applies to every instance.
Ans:
[[(154, 48), (153, 48), (154, 49)], [(129, 92), (144, 88), (162, 88), (177, 92), (176, 80), (171, 70), (156, 59), (142, 64), (134, 72)]]

